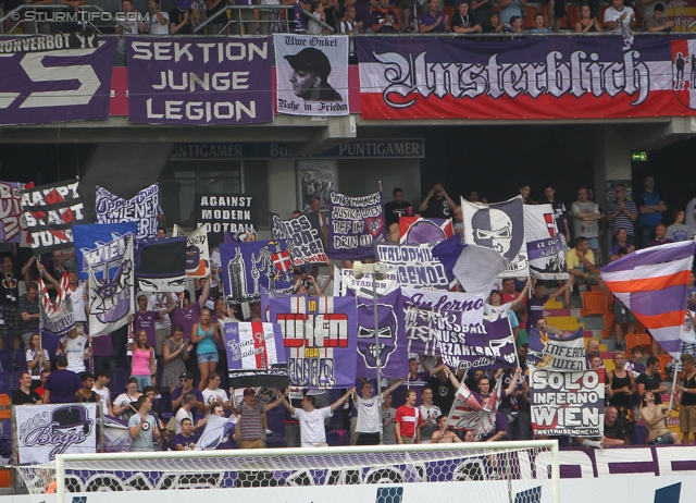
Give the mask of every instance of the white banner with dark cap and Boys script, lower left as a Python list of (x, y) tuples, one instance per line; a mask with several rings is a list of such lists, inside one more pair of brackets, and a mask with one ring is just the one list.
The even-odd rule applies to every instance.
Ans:
[(48, 463), (57, 454), (97, 452), (96, 403), (13, 408), (20, 464)]

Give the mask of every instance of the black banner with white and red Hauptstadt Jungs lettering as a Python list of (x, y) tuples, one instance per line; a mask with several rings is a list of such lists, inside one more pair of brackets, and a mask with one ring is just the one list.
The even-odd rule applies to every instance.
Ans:
[(85, 220), (77, 180), (57, 182), (22, 191), (22, 210), (32, 233), (35, 255), (73, 244), (74, 223)]

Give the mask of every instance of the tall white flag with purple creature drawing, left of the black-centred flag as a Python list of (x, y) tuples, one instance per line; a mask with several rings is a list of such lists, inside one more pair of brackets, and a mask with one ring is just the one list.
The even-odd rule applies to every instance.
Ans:
[[(89, 268), (89, 333), (104, 335), (128, 323), (135, 311), (133, 294), (135, 275), (133, 271), (133, 234), (119, 237), (112, 247), (125, 248), (113, 275), (97, 279), (95, 269)], [(112, 263), (114, 265), (114, 263)]]

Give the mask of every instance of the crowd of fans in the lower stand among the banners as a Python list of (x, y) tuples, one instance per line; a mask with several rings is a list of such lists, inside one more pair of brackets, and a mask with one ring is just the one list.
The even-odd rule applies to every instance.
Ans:
[[(222, 294), (221, 260), (211, 250), (213, 272), (197, 280), (195, 292), (178, 295), (148, 295), (137, 293), (137, 310), (132, 316), (130, 333), (124, 327), (111, 334), (89, 338), (85, 300), (86, 285), (77, 279), (74, 253), (53, 252), (49, 257), (34, 256), (23, 260), (24, 250), (9, 245), (2, 258), (4, 279), (0, 282), (0, 345), (13, 340), (12, 347), (26, 370), (15, 372), (17, 388), (13, 392), (15, 405), (90, 403), (103, 405), (103, 413), (121, 418), (129, 427), (132, 450), (190, 450), (211, 416), (236, 418), (234, 434), (219, 449), (258, 449), (266, 445), (274, 432), (269, 429), (269, 413), (285, 409), (283, 425), (287, 446), (319, 446), (326, 444), (327, 431), (338, 428), (350, 431), (350, 443), (372, 445), (383, 441), (394, 443), (451, 443), (532, 439), (530, 420), (530, 387), (527, 376), (529, 329), (542, 333), (559, 332), (544, 318), (544, 305), (551, 297), (563, 297), (566, 308), (573, 307), (571, 295), (575, 285), (599, 285), (598, 267), (602, 263), (599, 238), (611, 233), (609, 261), (633, 253), (636, 248), (660, 246), (686, 241), (696, 230), (696, 196), (684, 210), (674, 212), (673, 223), (663, 223), (666, 201), (655, 189), (652, 176), (646, 176), (643, 188), (630, 194), (625, 185), (611, 187), (613, 197), (602, 209), (593, 201), (586, 186), (577, 189), (577, 199), (566, 205), (552, 185), (533, 187), (520, 185), (524, 204), (550, 204), (566, 247), (570, 280), (558, 282), (527, 279), (502, 281), (501, 290), (490, 293), (488, 316), (508, 316), (518, 348), (519, 368), (469, 372), (453, 372), (442, 359), (411, 355), (408, 373), (402, 380), (377, 383), (358, 379), (350, 390), (269, 390), (246, 388), (234, 390), (227, 385), (226, 352), (222, 344), (221, 322), (262, 321), (259, 302), (249, 305), (248, 316), (240, 306), (228, 303)], [(537, 192), (538, 191), (538, 192)], [(543, 194), (543, 195), (542, 195)], [(434, 184), (417, 205), (405, 200), (403, 191), (394, 188), (393, 200), (386, 204), (388, 240), (399, 241), (399, 217), (422, 216), (451, 219), (455, 232), (462, 232), (461, 208), (444, 186)], [(474, 204), (486, 200), (475, 191), (468, 199)], [(310, 212), (320, 212), (321, 203), (314, 197)], [(302, 213), (296, 211), (293, 218)], [(324, 230), (326, 223), (324, 220)], [(160, 237), (166, 231), (160, 229)], [(246, 234), (245, 240), (254, 240)], [(20, 267), (22, 265), (22, 267)], [(351, 267), (350, 261), (344, 267)], [(330, 267), (331, 269), (331, 267)], [(63, 272), (69, 272), (69, 292), (75, 311), (76, 328), (60, 340), (50, 334), (39, 335), (41, 302), (36, 280), (40, 275), (47, 293), (55, 296)], [(320, 286), (318, 271), (301, 267), (294, 271), (295, 293), (322, 295), (330, 277)], [(26, 285), (20, 295), (18, 278)], [(547, 286), (555, 289), (550, 294)], [(530, 296), (527, 290), (531, 289)], [(688, 297), (684, 299), (688, 316), (696, 310), (696, 286), (692, 273)], [(498, 307), (498, 309), (495, 309)], [(502, 308), (500, 308), (502, 307)], [(650, 443), (689, 443), (696, 434), (696, 339), (682, 345), (682, 377), (672, 390), (660, 376), (661, 349), (633, 347), (626, 357), (623, 346), (625, 333), (635, 328), (635, 317), (618, 299), (613, 302), (617, 323), (614, 369), (606, 372), (605, 434), (599, 439), (575, 439), (594, 446), (623, 445), (631, 441), (635, 424), (641, 418)], [(693, 318), (692, 318), (693, 320)], [(622, 328), (625, 327), (625, 332)], [(692, 338), (694, 331), (691, 331)], [(646, 351), (651, 354), (647, 359)], [(604, 366), (600, 341), (586, 344), (587, 368)], [(7, 369), (5, 369), (7, 370)], [(114, 375), (129, 376), (124, 391), (114, 396)], [(501, 383), (495, 430), (474, 438), (472, 432), (446, 429), (447, 414), (455, 395), (464, 382), (475, 400), (485, 408), (498, 382)], [(378, 396), (375, 395), (378, 393)], [(667, 428), (669, 410), (662, 395), (672, 393), (680, 408), (682, 438)], [(336, 412), (339, 414), (335, 414)], [(333, 417), (333, 418), (332, 418)], [(381, 437), (382, 431), (382, 437)]]

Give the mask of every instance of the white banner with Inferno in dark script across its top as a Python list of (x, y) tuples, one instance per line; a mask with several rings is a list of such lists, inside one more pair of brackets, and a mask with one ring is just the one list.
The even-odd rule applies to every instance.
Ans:
[[(401, 289), (409, 353), (440, 356), (439, 339), (483, 323), (483, 298), (459, 292)], [(439, 335), (438, 335), (439, 334)], [(438, 339), (439, 338), (439, 339)]]

